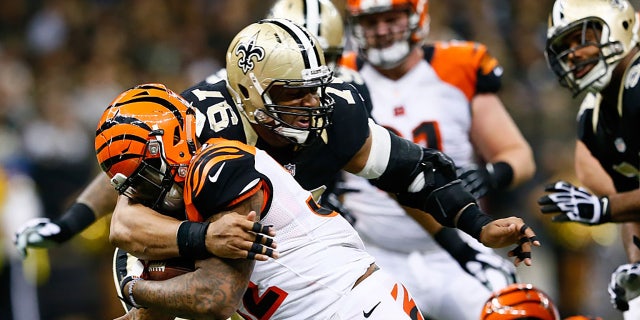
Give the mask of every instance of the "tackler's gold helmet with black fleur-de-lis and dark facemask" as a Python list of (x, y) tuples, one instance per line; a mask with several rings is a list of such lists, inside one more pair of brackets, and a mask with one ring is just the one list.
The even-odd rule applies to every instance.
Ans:
[[(228, 88), (251, 123), (299, 144), (310, 144), (330, 124), (334, 100), (325, 93), (333, 79), (316, 38), (287, 19), (265, 19), (240, 31), (226, 58)], [(320, 106), (277, 105), (271, 89), (317, 90)], [(283, 115), (307, 117), (304, 126)]]

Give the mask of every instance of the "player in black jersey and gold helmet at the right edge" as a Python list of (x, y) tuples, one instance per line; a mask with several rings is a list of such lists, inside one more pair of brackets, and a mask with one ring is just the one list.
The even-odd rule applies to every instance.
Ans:
[[(546, 57), (560, 84), (574, 96), (586, 91), (578, 114), (576, 174), (584, 187), (548, 185), (539, 199), (553, 221), (587, 225), (626, 222), (622, 239), (631, 264), (612, 275), (612, 303), (629, 309), (640, 295), (640, 86), (638, 15), (627, 0), (556, 1), (549, 17)], [(636, 300), (638, 301), (638, 300)], [(638, 301), (640, 303), (640, 301)], [(637, 308), (637, 307), (636, 307)], [(640, 318), (632, 308), (625, 318)]]

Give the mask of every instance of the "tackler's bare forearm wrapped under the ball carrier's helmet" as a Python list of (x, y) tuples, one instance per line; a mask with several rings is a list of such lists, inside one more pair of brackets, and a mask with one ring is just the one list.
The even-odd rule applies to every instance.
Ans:
[(111, 218), (111, 244), (144, 260), (180, 256), (176, 235), (181, 221), (120, 196)]

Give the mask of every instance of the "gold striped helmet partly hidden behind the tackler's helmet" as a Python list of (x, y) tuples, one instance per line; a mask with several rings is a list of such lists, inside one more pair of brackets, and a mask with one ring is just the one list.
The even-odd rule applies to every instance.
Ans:
[(284, 18), (307, 29), (320, 41), (327, 65), (334, 68), (344, 50), (344, 22), (330, 0), (278, 0), (267, 18)]

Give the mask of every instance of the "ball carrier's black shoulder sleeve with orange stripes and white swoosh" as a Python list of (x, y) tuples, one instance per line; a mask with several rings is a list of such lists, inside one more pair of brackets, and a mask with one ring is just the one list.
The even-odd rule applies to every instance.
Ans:
[(214, 140), (218, 142), (194, 158), (185, 182), (185, 203), (193, 204), (202, 219), (247, 199), (267, 180), (255, 168), (255, 149), (237, 141)]

